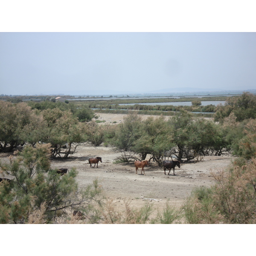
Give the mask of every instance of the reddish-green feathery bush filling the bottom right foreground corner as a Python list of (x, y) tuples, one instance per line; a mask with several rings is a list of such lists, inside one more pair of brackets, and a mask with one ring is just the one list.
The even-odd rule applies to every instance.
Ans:
[(229, 169), (213, 173), (215, 184), (197, 188), (183, 209), (189, 224), (255, 224), (256, 158), (236, 160)]

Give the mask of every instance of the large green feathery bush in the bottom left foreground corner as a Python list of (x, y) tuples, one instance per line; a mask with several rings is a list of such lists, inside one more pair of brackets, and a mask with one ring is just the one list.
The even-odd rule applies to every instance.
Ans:
[(73, 210), (84, 213), (88, 223), (99, 220), (94, 204), (101, 204), (97, 180), (84, 189), (76, 182), (77, 172), (71, 169), (61, 176), (50, 169), (49, 144), (26, 146), (10, 163), (0, 163), (12, 182), (0, 183), (0, 223), (31, 223), (32, 215), (41, 212), (41, 223), (58, 223)]

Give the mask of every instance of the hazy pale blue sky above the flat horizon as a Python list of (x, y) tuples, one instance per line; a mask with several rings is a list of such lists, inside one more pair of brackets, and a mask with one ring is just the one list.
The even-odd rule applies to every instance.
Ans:
[(0, 33), (0, 94), (177, 87), (256, 89), (256, 33)]

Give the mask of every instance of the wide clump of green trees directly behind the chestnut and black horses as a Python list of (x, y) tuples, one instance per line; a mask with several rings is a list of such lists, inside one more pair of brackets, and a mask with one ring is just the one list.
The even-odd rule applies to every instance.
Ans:
[(176, 113), (168, 121), (163, 116), (143, 121), (132, 112), (108, 138), (118, 150), (140, 154), (140, 160), (151, 154), (159, 166), (166, 151), (182, 162), (183, 159), (189, 161), (195, 157), (199, 159), (199, 156), (221, 155), (230, 150), (221, 125), (192, 118), (186, 111)]

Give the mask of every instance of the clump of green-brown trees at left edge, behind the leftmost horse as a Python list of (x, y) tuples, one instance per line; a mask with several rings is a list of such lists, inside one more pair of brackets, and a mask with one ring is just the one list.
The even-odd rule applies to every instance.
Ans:
[(35, 145), (40, 141), (51, 143), (52, 157), (67, 158), (76, 149), (74, 143), (86, 141), (86, 126), (71, 110), (56, 107), (70, 104), (45, 101), (40, 105), (44, 110), (36, 108), (36, 104), (32, 109), (24, 102), (0, 101), (0, 151), (9, 152), (18, 145)]

